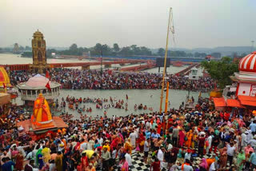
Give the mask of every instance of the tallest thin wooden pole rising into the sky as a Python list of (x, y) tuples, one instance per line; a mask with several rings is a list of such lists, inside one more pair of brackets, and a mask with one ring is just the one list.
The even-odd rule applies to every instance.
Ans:
[(162, 89), (161, 89), (161, 97), (160, 97), (160, 113), (162, 113), (162, 98), (163, 98), (163, 89), (165, 87), (165, 77), (166, 77), (166, 58), (167, 58), (167, 52), (168, 52), (168, 40), (169, 40), (169, 32), (170, 32), (170, 16), (172, 13), (172, 8), (170, 8), (169, 11), (169, 21), (167, 26), (167, 36), (166, 36), (166, 54), (165, 54), (165, 64), (162, 71)]

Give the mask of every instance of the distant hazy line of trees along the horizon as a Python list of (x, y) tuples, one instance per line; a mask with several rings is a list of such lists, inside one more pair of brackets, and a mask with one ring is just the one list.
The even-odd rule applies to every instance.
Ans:
[[(28, 47), (25, 48), (28, 50)], [(68, 50), (54, 50), (48, 49), (46, 52), (47, 58), (51, 58), (51, 54), (55, 53), (57, 55), (89, 55), (90, 56), (165, 56), (166, 50), (163, 48), (159, 48), (156, 52), (153, 52), (149, 48), (145, 46), (118, 46), (118, 43), (114, 43), (114, 45), (108, 46), (106, 44), (102, 45), (101, 43), (97, 43), (95, 46), (87, 48), (87, 47), (78, 47), (75, 43), (70, 46)], [(214, 58), (221, 58), (221, 53), (212, 53), (210, 54)], [(22, 57), (31, 57), (31, 52), (24, 52)], [(168, 50), (167, 56), (169, 57), (188, 57), (188, 58), (206, 58), (206, 53), (190, 53), (182, 50)]]

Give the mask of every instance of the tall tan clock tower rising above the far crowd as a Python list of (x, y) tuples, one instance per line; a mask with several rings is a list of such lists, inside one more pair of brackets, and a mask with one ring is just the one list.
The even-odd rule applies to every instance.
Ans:
[(32, 56), (33, 65), (30, 69), (34, 73), (45, 73), (49, 68), (46, 61), (46, 41), (43, 39), (43, 34), (40, 31), (34, 32), (32, 39)]

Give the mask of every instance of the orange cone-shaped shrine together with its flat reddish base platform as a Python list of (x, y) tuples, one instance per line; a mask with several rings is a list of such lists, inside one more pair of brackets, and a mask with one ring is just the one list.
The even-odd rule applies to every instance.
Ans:
[(50, 107), (46, 98), (42, 93), (34, 101), (34, 109), (31, 118), (26, 121), (17, 123), (18, 127), (22, 127), (21, 133), (46, 133), (47, 131), (66, 128), (68, 125), (62, 121), (61, 117), (52, 117)]

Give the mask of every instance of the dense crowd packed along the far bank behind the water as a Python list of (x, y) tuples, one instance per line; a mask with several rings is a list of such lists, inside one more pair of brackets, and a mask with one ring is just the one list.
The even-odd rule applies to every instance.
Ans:
[[(10, 73), (11, 83), (26, 82), (32, 74), (27, 72)], [(214, 88), (214, 80), (211, 78), (199, 78), (189, 80), (186, 77), (178, 77), (167, 74), (170, 78), (170, 89), (186, 89), (191, 91), (209, 91)], [(50, 71), (51, 81), (58, 82), (62, 89), (160, 89), (162, 74), (149, 73), (121, 73), (105, 70), (76, 70), (62, 69)]]

